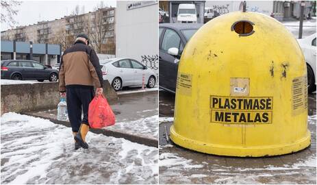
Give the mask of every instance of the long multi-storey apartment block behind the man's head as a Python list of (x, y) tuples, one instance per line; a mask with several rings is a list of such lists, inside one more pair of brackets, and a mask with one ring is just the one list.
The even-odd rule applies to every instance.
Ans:
[(86, 33), (97, 53), (114, 55), (116, 8), (100, 8), (86, 14), (64, 16), (53, 21), (41, 21), (34, 25), (16, 27), (1, 32), (1, 40), (16, 40), (42, 44), (62, 45), (62, 51), (70, 47), (75, 36)]

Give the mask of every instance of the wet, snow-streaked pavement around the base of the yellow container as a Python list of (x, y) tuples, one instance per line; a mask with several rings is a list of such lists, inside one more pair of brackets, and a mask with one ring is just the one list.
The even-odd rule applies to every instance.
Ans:
[(175, 145), (169, 135), (175, 95), (160, 90), (160, 184), (316, 184), (316, 93), (309, 95), (312, 145), (266, 158), (214, 156)]

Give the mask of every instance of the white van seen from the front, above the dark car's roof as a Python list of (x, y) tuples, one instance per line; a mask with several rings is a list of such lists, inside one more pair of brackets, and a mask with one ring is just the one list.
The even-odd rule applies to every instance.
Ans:
[(197, 23), (196, 7), (194, 4), (179, 4), (177, 12), (178, 23)]

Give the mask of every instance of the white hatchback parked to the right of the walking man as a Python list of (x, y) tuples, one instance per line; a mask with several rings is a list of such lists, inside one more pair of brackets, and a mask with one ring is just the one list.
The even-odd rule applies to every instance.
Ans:
[(110, 58), (99, 62), (103, 79), (107, 79), (114, 90), (125, 86), (142, 86), (143, 83), (153, 88), (157, 81), (157, 75), (151, 69), (132, 58)]

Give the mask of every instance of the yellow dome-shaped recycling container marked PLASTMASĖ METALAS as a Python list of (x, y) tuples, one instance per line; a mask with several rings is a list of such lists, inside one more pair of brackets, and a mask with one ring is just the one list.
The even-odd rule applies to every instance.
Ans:
[(301, 48), (270, 16), (232, 12), (189, 40), (177, 74), (174, 143), (221, 156), (305, 149), (307, 70)]

